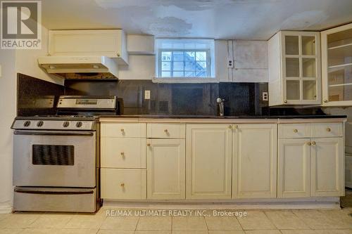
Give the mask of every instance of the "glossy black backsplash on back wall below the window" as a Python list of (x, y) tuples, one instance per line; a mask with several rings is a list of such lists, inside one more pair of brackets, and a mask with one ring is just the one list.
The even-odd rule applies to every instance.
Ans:
[[(151, 99), (144, 99), (144, 91)], [(267, 83), (160, 84), (145, 80), (65, 80), (65, 95), (114, 95), (124, 100), (124, 115), (218, 115), (216, 98), (225, 99), (225, 115), (268, 115), (261, 93)]]

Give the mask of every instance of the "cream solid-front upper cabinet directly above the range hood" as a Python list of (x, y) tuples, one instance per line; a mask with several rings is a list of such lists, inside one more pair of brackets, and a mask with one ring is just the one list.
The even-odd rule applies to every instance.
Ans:
[(106, 56), (128, 64), (123, 30), (50, 30), (49, 56)]

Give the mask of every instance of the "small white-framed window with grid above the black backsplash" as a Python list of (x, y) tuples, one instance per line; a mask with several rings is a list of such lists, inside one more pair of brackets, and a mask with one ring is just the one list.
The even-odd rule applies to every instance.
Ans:
[(210, 78), (214, 40), (157, 39), (156, 74), (158, 78)]

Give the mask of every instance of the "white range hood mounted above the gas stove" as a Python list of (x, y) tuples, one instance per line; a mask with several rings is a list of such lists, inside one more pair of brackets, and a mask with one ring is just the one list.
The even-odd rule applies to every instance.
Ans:
[[(45, 56), (38, 58), (46, 72), (54, 74), (111, 74), (118, 78), (118, 63), (106, 56)], [(113, 77), (109, 78), (113, 78)]]

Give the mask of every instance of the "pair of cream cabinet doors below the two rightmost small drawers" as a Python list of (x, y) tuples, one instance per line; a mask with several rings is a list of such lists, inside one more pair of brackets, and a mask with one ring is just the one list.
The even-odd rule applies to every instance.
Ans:
[(278, 165), (278, 197), (344, 195), (343, 137), (281, 138)]

